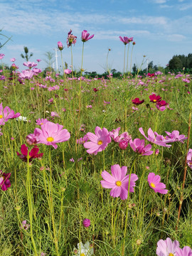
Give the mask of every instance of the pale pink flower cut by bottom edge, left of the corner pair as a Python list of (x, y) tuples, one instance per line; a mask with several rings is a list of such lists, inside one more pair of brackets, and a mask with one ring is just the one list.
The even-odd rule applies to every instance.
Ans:
[(158, 256), (169, 256), (176, 255), (176, 249), (179, 247), (179, 242), (175, 240), (171, 241), (170, 238), (166, 238), (166, 240), (159, 240), (157, 242), (156, 255)]

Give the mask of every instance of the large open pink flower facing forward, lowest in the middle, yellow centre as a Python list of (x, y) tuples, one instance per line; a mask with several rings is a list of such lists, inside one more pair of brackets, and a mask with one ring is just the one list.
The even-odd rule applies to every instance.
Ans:
[(130, 187), (129, 187), (129, 175), (127, 174), (127, 166), (119, 166), (114, 164), (111, 166), (112, 175), (107, 171), (102, 171), (102, 178), (104, 181), (100, 181), (103, 188), (112, 188), (110, 196), (116, 198), (120, 197), (122, 200), (127, 199), (128, 188), (129, 192), (134, 192), (135, 182), (138, 177), (136, 174), (131, 174)]

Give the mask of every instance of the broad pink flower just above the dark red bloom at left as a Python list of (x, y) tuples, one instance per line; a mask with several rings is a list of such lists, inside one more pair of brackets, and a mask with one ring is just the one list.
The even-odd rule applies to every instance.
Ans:
[(54, 124), (53, 122), (46, 122), (41, 125), (41, 129), (36, 128), (34, 135), (37, 137), (38, 142), (46, 145), (51, 145), (54, 149), (58, 148), (56, 143), (66, 142), (70, 139), (70, 133), (67, 129), (63, 129), (63, 125)]

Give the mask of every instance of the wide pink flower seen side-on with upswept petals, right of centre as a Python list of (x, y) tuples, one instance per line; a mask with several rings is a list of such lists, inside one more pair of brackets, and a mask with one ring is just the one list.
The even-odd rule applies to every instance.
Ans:
[(159, 146), (171, 146), (169, 144), (166, 144), (166, 139), (162, 135), (158, 134), (157, 132), (153, 132), (151, 128), (148, 129), (148, 137), (146, 137), (146, 135), (144, 134), (144, 130), (142, 127), (139, 128), (139, 132), (141, 132), (145, 139), (151, 143), (154, 143)]

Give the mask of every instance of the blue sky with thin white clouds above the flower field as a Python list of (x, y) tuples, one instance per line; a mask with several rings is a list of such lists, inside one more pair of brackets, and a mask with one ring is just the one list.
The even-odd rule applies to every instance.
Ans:
[[(76, 69), (81, 65), (81, 32), (95, 34), (84, 49), (83, 68), (89, 72), (105, 72), (108, 48), (112, 49), (108, 63), (122, 72), (124, 44), (119, 36), (134, 37), (132, 63), (137, 65), (141, 65), (143, 55), (154, 65), (166, 66), (173, 55), (192, 52), (191, 0), (1, 0), (0, 10), (0, 28), (12, 36), (0, 53), (5, 54), (8, 65), (10, 58), (16, 58), (20, 70), (25, 69), (20, 56), (23, 46), (33, 53), (30, 61), (39, 58), (39, 68), (46, 68), (44, 54), (54, 53), (58, 41), (65, 46), (63, 60), (70, 65), (70, 48), (66, 46), (70, 28), (78, 36), (73, 47)], [(4, 43), (4, 38), (0, 41)]]

